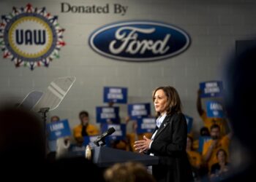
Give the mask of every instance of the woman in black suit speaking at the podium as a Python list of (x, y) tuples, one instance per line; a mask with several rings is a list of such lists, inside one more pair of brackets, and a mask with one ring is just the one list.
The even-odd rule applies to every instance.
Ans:
[(150, 138), (135, 141), (135, 149), (159, 157), (152, 166), (158, 182), (193, 181), (187, 157), (187, 121), (181, 112), (181, 99), (174, 87), (158, 87), (153, 92), (157, 126)]

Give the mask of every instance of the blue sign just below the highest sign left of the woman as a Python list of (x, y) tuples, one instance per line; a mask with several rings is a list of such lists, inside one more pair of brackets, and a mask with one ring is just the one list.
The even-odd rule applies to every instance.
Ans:
[(105, 123), (105, 122), (113, 122), (120, 123), (119, 117), (119, 107), (96, 107), (96, 119), (97, 122)]

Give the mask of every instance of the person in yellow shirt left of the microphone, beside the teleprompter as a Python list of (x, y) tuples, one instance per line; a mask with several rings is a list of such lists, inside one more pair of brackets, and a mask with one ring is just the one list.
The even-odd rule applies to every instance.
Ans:
[(81, 111), (79, 114), (80, 124), (74, 127), (73, 135), (78, 145), (83, 144), (83, 137), (91, 135), (99, 135), (99, 130), (93, 124), (89, 123), (89, 113)]

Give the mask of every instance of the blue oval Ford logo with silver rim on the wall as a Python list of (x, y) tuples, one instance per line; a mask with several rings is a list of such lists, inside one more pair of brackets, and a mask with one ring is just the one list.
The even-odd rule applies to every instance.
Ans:
[(89, 44), (100, 55), (145, 62), (178, 55), (189, 47), (189, 35), (173, 25), (129, 21), (106, 25), (91, 34)]

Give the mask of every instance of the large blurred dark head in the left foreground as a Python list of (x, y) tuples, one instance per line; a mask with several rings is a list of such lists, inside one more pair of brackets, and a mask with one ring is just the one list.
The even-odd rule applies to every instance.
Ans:
[(0, 138), (1, 162), (29, 165), (45, 159), (43, 122), (31, 111), (0, 108)]

